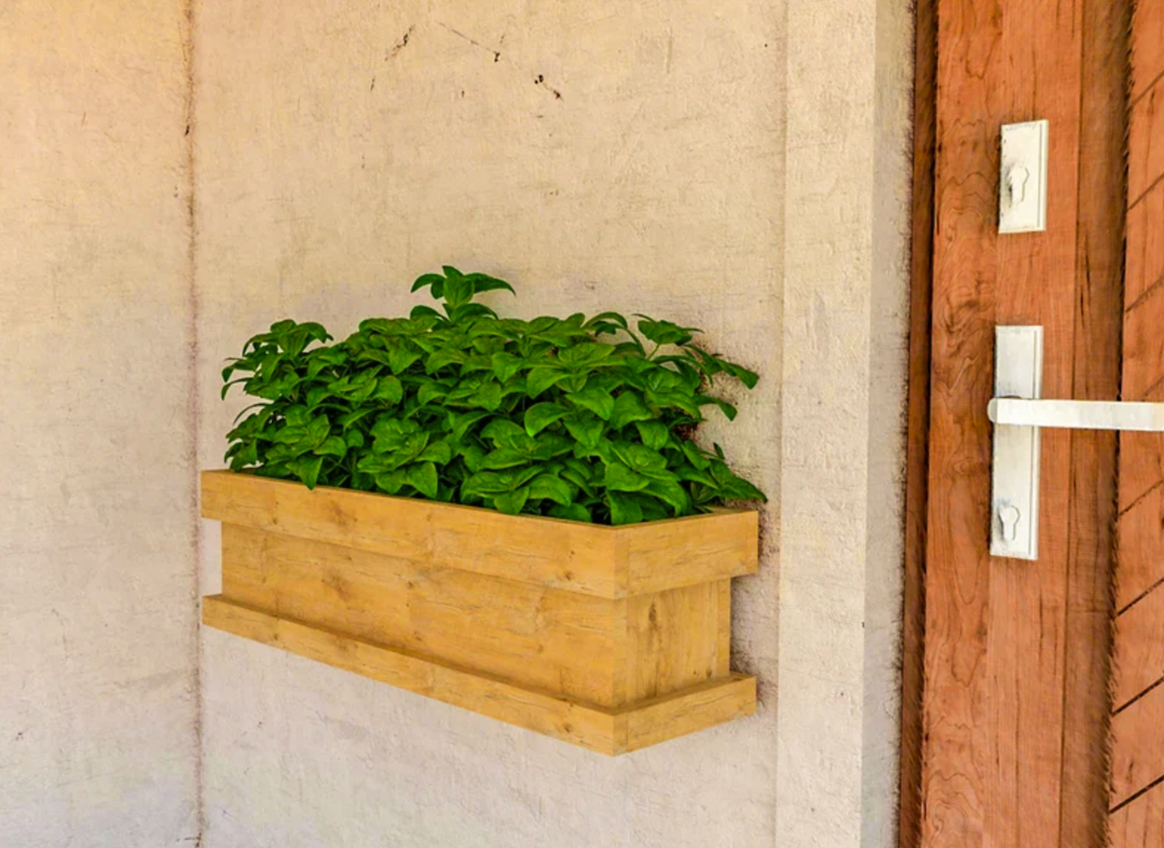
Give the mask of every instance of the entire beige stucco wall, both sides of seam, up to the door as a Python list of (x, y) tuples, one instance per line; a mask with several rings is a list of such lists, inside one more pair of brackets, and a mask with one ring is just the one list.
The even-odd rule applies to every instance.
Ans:
[[(906, 0), (192, 8), (191, 48), (177, 0), (0, 6), (0, 846), (890, 845)], [(755, 716), (609, 759), (213, 630), (199, 663), (221, 360), (443, 262), (761, 373), (704, 433), (772, 496)]]

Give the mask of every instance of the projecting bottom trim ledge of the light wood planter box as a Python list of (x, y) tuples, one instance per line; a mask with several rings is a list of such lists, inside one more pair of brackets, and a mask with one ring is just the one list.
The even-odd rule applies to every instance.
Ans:
[(623, 708), (603, 708), (468, 672), (431, 658), (251, 609), (203, 599), (208, 627), (352, 671), (610, 756), (665, 742), (755, 711), (755, 678), (732, 674)]

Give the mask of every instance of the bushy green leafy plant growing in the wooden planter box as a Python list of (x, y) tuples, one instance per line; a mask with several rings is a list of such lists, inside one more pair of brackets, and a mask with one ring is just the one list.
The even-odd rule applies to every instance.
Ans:
[(718, 445), (691, 441), (705, 407), (736, 417), (705, 394), (715, 377), (758, 379), (697, 347), (700, 331), (638, 316), (636, 333), (616, 312), (498, 318), (474, 297), (509, 283), (443, 271), (412, 287), (443, 313), (371, 318), (333, 345), (283, 320), (247, 341), (222, 396), (241, 383), (262, 402), (227, 436), (230, 467), (612, 524), (764, 499)]

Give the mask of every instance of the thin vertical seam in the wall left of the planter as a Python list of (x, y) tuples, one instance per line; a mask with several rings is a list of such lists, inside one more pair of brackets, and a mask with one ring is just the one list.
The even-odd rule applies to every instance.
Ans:
[(201, 568), (201, 533), (198, 525), (198, 440), (200, 419), (200, 391), (198, 380), (198, 219), (196, 215), (196, 160), (194, 160), (194, 1), (183, 0), (183, 64), (185, 72), (185, 177), (186, 177), (186, 306), (189, 347), (186, 351), (186, 386), (190, 393), (186, 398), (186, 461), (190, 469), (190, 550), (193, 560), (193, 598), (194, 608), (193, 659), (194, 659), (194, 817), (198, 832), (194, 845), (203, 843), (206, 832), (206, 812), (203, 785), (203, 651), (199, 631), (199, 572)]

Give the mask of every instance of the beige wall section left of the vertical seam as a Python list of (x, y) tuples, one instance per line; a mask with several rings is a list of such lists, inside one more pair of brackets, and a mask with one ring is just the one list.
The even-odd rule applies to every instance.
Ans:
[(197, 839), (185, 19), (0, 3), (0, 846)]

